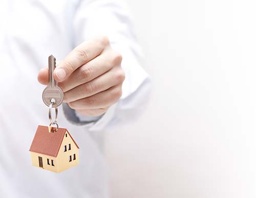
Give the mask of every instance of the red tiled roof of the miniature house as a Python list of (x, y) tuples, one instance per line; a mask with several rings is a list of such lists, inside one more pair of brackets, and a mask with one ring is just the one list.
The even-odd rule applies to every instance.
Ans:
[[(52, 129), (55, 129), (54, 127)], [(57, 157), (61, 142), (65, 133), (70, 135), (67, 129), (58, 128), (57, 131), (49, 133), (48, 127), (38, 126), (29, 151)], [(70, 135), (71, 139), (76, 144), (75, 140)], [(76, 144), (79, 149), (78, 145)]]

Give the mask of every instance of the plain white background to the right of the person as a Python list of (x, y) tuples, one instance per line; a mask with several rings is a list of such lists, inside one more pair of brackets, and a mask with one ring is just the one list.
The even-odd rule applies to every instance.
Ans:
[(112, 197), (256, 197), (256, 2), (127, 3), (153, 90), (105, 133)]

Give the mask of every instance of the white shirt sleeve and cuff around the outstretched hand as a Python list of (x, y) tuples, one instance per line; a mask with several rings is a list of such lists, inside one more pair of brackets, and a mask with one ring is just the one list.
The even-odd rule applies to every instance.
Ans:
[[(79, 1), (74, 13), (74, 46), (98, 35), (109, 37), (111, 46), (119, 52), (125, 80), (122, 96), (102, 116), (88, 117), (75, 112), (73, 123), (87, 125), (90, 131), (100, 131), (116, 121), (139, 114), (150, 91), (150, 78), (141, 67), (142, 52), (135, 38), (130, 13), (123, 1)], [(67, 115), (68, 107), (64, 108)], [(70, 113), (70, 112), (69, 112)]]

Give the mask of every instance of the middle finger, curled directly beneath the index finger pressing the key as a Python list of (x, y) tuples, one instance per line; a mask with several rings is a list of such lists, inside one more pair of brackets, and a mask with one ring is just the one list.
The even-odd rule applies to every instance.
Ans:
[(122, 56), (114, 51), (102, 53), (95, 59), (89, 61), (83, 66), (76, 69), (68, 79), (58, 83), (58, 86), (64, 91), (69, 91), (78, 85), (87, 83), (112, 67), (120, 66)]

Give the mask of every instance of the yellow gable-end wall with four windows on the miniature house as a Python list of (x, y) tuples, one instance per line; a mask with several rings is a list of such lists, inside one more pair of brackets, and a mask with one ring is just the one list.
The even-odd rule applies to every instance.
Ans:
[[(68, 137), (66, 137), (66, 134)], [(69, 144), (71, 144), (71, 150), (69, 151)], [(64, 152), (64, 146), (67, 145), (67, 151)], [(73, 155), (76, 154), (76, 159), (73, 160)], [(72, 161), (69, 162), (69, 156), (71, 155)], [(79, 164), (79, 154), (78, 154), (78, 148), (75, 145), (74, 141), (70, 137), (69, 133), (65, 133), (59, 153), (57, 156), (57, 162), (58, 162), (58, 167), (57, 167), (57, 172), (61, 172), (63, 170), (66, 170), (70, 167), (73, 167), (77, 164)]]

